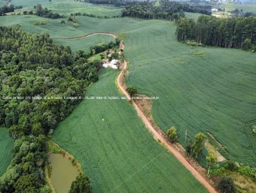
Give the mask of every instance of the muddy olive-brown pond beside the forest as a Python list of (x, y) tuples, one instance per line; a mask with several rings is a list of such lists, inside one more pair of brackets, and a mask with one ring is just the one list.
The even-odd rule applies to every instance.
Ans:
[(68, 193), (72, 181), (76, 180), (79, 171), (67, 157), (60, 153), (51, 153), (49, 155), (51, 163), (51, 184), (56, 190), (56, 193)]

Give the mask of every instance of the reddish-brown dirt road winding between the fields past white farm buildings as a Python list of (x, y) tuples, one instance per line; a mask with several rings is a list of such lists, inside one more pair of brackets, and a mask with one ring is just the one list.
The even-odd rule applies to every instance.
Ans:
[[(93, 35), (109, 35), (109, 36), (113, 36), (114, 38), (116, 38), (115, 33), (90, 33), (90, 34), (83, 35), (83, 36), (76, 36), (76, 37), (72, 37), (72, 38), (58, 38), (58, 39), (59, 40), (60, 39), (61, 40), (77, 40), (77, 39), (86, 38), (88, 36), (93, 36)], [(121, 41), (120, 49), (124, 50), (124, 48), (125, 48), (124, 42)], [(193, 166), (191, 166), (191, 164), (189, 164), (189, 162), (186, 160), (186, 158), (178, 150), (175, 149), (175, 147), (172, 145), (172, 143), (170, 143), (170, 141), (166, 138), (166, 135), (164, 134), (164, 132), (162, 130), (156, 130), (152, 126), (150, 121), (148, 121), (147, 117), (141, 111), (141, 109), (138, 107), (138, 105), (133, 100), (129, 99), (130, 98), (129, 93), (127, 93), (127, 91), (125, 91), (125, 84), (122, 83), (124, 81), (124, 72), (127, 69), (128, 62), (126, 60), (124, 60), (123, 65), (124, 65), (123, 70), (118, 74), (118, 77), (117, 77), (118, 88), (122, 91), (122, 93), (125, 95), (125, 97), (132, 103), (134, 109), (138, 113), (138, 116), (141, 118), (141, 120), (143, 121), (143, 123), (146, 126), (146, 128), (148, 129), (148, 131), (154, 136), (155, 139), (157, 139), (157, 141), (160, 141), (188, 169), (188, 171), (190, 171), (191, 174), (193, 174), (193, 176), (195, 176), (195, 178), (202, 185), (204, 185), (204, 187), (209, 192), (217, 193), (217, 191), (209, 184), (209, 182), (207, 180), (205, 180), (204, 176), (202, 176), (200, 173), (198, 173), (198, 171), (196, 171), (196, 169)]]

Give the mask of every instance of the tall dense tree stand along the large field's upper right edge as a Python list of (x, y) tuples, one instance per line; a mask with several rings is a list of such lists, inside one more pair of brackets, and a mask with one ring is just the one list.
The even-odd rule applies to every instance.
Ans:
[(177, 38), (204, 45), (255, 50), (256, 17), (220, 19), (202, 15), (197, 22), (182, 18), (178, 22)]

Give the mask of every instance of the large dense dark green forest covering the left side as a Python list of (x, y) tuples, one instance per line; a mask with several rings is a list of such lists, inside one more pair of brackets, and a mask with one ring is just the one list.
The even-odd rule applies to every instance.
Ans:
[(89, 56), (82, 50), (72, 55), (47, 33), (0, 27), (0, 127), (10, 128), (15, 139), (0, 192), (49, 192), (43, 172), (47, 135), (81, 101), (67, 98), (83, 96), (97, 81), (101, 63), (88, 62)]

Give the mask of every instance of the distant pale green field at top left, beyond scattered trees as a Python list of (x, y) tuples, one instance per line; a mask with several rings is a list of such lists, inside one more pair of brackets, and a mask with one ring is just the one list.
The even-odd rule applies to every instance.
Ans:
[[(4, 0), (0, 0), (0, 4), (4, 4)], [(6, 2), (6, 1), (5, 1)], [(114, 16), (120, 15), (121, 8), (106, 5), (95, 5), (90, 3), (84, 3), (73, 0), (12, 0), (12, 4), (15, 6), (23, 6), (22, 10), (33, 10), (36, 4), (42, 4), (44, 8), (52, 10), (54, 13), (60, 13), (63, 15), (70, 15), (70, 13), (89, 13), (99, 16)]]

